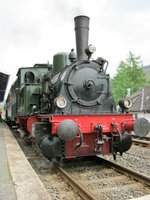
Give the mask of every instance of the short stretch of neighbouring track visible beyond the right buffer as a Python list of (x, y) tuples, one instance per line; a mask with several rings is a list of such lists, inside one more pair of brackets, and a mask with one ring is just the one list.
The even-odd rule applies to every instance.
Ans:
[(139, 145), (142, 147), (150, 148), (150, 138), (149, 137), (140, 138), (136, 135), (132, 135), (132, 143), (134, 145)]

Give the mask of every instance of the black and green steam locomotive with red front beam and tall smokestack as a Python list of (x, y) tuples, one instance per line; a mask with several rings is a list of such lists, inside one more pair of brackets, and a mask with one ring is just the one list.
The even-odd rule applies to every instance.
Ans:
[(77, 55), (61, 52), (53, 65), (35, 64), (18, 70), (6, 100), (6, 119), (16, 122), (23, 138), (34, 140), (44, 156), (76, 158), (130, 149), (131, 132), (140, 137), (149, 122), (128, 113), (129, 98), (120, 100), (121, 113), (109, 89), (108, 62), (88, 45), (89, 17), (75, 17)]

